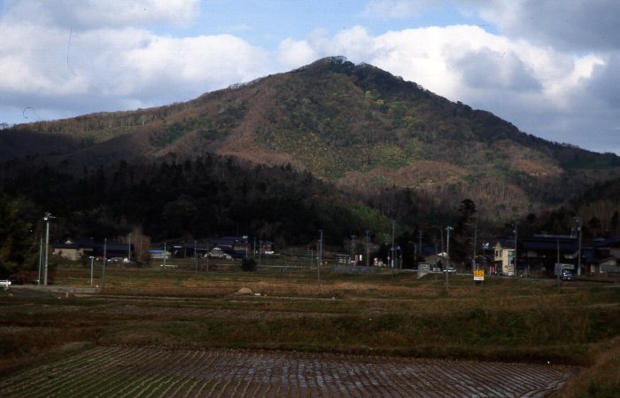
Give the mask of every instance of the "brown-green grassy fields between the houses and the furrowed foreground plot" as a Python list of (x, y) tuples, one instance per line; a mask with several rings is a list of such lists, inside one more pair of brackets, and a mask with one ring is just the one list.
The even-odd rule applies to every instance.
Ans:
[[(567, 396), (620, 385), (616, 287), (450, 277), (446, 293), (443, 276), (325, 269), (319, 289), (315, 270), (220, 269), (110, 267), (102, 294), (1, 293), (0, 366), (87, 341), (548, 362), (585, 367), (570, 388), (584, 395)], [(89, 269), (58, 269), (56, 283), (89, 285)], [(260, 296), (236, 295), (241, 287)]]

